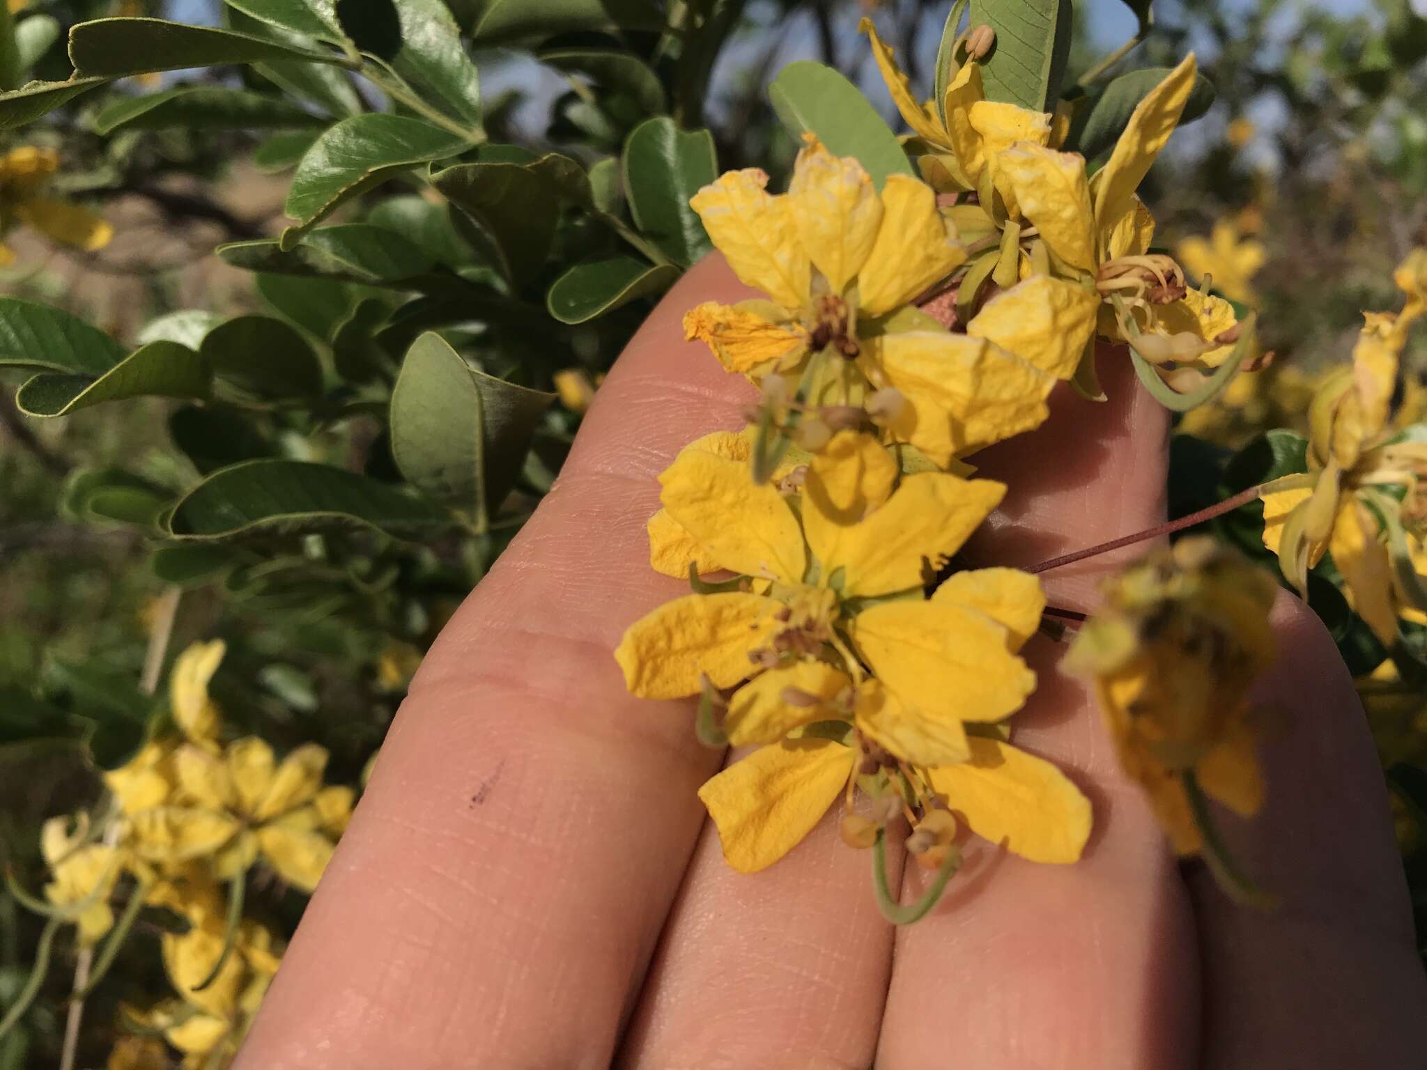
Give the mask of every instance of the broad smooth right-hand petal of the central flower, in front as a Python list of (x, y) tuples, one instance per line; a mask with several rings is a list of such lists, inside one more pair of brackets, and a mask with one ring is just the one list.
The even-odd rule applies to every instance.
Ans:
[(852, 618), (848, 633), (903, 703), (942, 719), (1002, 720), (1036, 689), (1006, 628), (953, 602), (883, 602)]

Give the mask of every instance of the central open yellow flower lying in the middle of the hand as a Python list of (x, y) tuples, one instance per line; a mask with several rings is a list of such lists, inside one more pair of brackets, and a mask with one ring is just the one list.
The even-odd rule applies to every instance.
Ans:
[(723, 723), (733, 743), (843, 719), (900, 759), (963, 760), (962, 722), (1000, 720), (1035, 688), (1016, 651), (1045, 602), (1013, 569), (962, 574), (926, 599), (938, 562), (1005, 486), (943, 472), (896, 481), (872, 437), (839, 432), (808, 465), (799, 525), (788, 499), (738, 461), (679, 454), (661, 477), (664, 508), (752, 589), (688, 595), (632, 625), (615, 651), (629, 691), (736, 688)]

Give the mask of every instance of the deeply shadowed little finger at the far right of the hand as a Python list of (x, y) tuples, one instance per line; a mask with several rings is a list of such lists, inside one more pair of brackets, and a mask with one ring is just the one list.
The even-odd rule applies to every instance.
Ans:
[(1207, 872), (1190, 877), (1204, 1066), (1417, 1066), (1427, 976), (1367, 722), (1321, 622), (1283, 593), (1274, 623), (1279, 662), (1254, 689), (1281, 722), (1261, 746), (1267, 802), (1250, 822), (1216, 816), (1240, 865), (1281, 902), (1240, 907)]

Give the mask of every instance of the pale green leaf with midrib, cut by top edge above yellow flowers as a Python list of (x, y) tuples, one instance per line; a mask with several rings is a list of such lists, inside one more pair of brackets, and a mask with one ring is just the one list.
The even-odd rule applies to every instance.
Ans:
[(1070, 53), (1070, 0), (972, 0), (970, 17), (996, 31), (980, 60), (986, 100), (1047, 111)]

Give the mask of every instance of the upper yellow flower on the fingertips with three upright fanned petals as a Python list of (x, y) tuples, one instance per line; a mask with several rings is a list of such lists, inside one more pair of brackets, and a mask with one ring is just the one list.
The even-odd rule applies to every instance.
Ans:
[(856, 160), (816, 140), (786, 194), (766, 181), (731, 171), (691, 201), (738, 277), (771, 300), (702, 304), (685, 317), (689, 338), (753, 381), (801, 377), (813, 407), (862, 408), (892, 391), (898, 404), (875, 419), (942, 468), (1046, 418), (1093, 331), (1079, 287), (1035, 280), (953, 334), (906, 308), (965, 260), (928, 185), (889, 175), (879, 194)]

